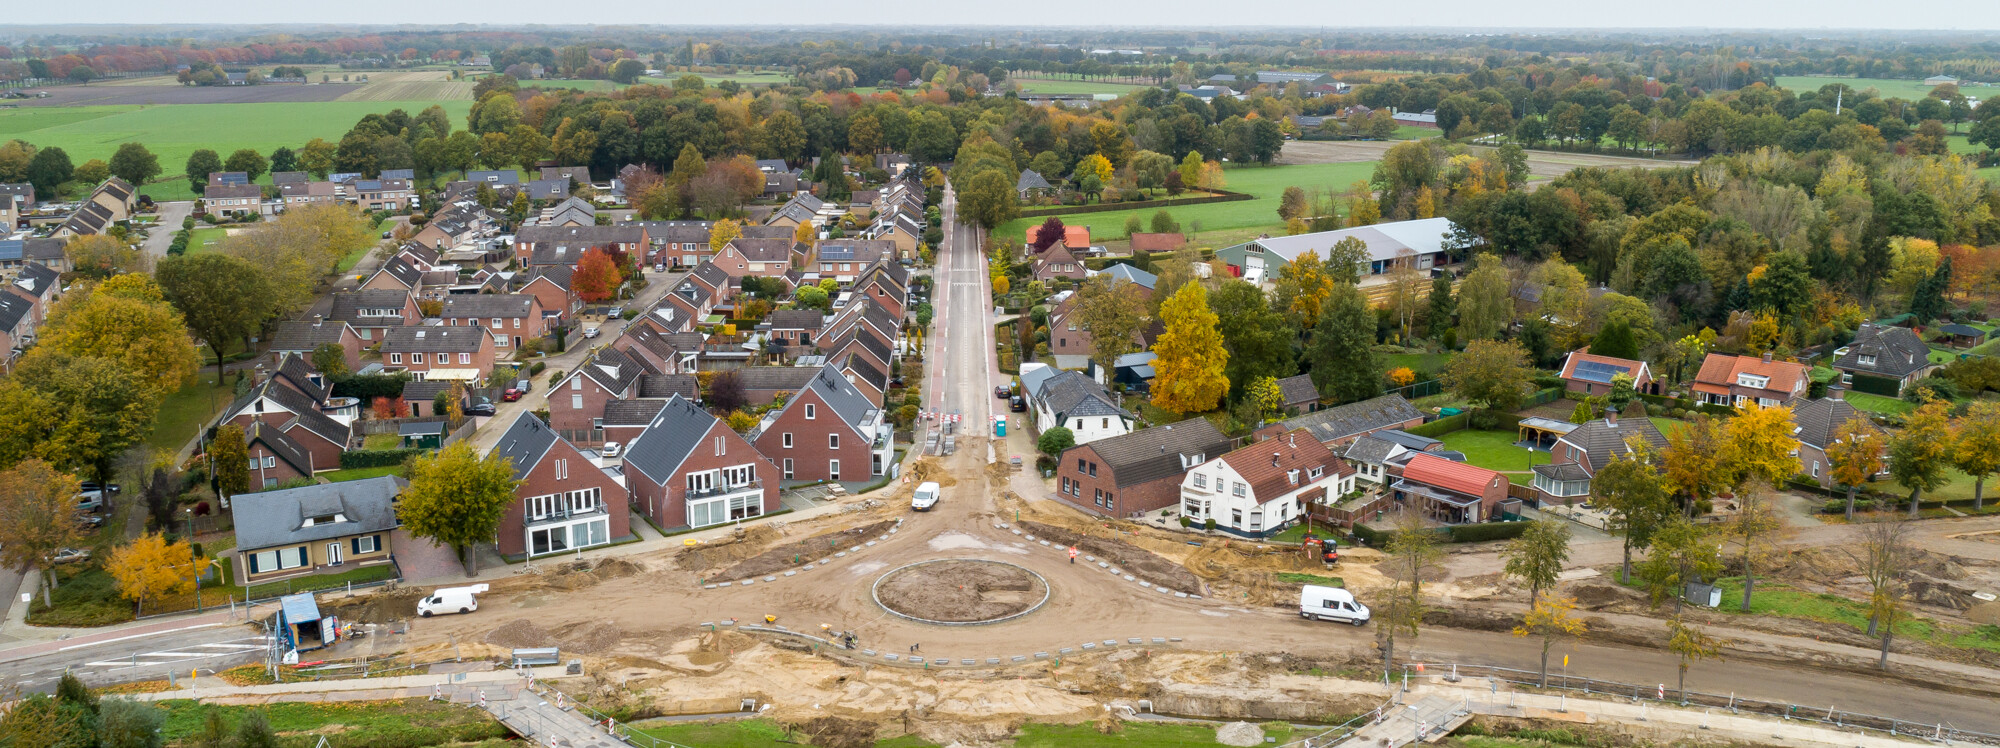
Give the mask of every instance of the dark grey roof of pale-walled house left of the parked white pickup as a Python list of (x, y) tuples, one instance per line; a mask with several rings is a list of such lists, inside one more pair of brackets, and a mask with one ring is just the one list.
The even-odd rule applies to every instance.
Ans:
[[(230, 498), (236, 548), (260, 550), (312, 540), (386, 532), (398, 526), (396, 496), (408, 482), (396, 476), (344, 480)], [(306, 518), (342, 514), (348, 522), (304, 526)]]

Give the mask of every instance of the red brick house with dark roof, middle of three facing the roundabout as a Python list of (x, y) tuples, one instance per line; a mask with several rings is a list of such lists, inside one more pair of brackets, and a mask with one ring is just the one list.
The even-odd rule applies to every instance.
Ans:
[(778, 468), (742, 434), (674, 396), (630, 442), (626, 486), (662, 530), (706, 528), (778, 508)]

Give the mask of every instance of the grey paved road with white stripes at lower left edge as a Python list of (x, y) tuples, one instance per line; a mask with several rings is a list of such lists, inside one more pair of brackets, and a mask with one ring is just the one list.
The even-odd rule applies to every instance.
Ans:
[[(246, 624), (218, 624), (176, 632), (134, 634), (100, 644), (78, 644), (0, 662), (0, 682), (24, 692), (52, 692), (62, 672), (84, 684), (112, 686), (134, 680), (164, 680), (168, 672), (204, 676), (264, 658), (264, 632)], [(6, 654), (0, 652), (0, 658)]]

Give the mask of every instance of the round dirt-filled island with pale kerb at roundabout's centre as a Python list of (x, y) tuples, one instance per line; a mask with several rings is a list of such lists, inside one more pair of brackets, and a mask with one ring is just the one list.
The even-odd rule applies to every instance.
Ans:
[(874, 600), (924, 624), (998, 624), (1048, 602), (1048, 580), (1006, 562), (938, 558), (888, 570), (874, 584)]

